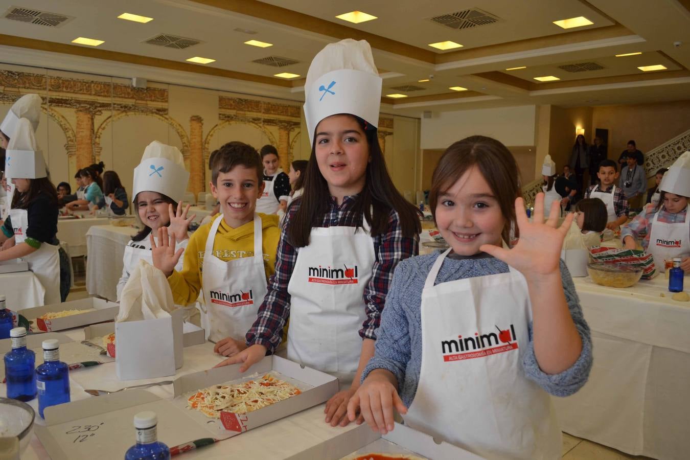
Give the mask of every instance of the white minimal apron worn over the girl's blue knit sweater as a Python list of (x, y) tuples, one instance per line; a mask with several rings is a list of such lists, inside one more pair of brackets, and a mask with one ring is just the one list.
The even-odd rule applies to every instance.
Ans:
[(560, 459), (551, 398), (527, 379), (522, 357), (532, 320), (517, 270), (434, 281), (422, 291), (422, 368), (405, 424), (486, 459)]

